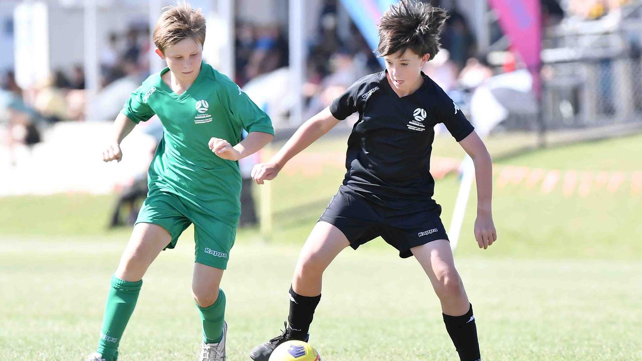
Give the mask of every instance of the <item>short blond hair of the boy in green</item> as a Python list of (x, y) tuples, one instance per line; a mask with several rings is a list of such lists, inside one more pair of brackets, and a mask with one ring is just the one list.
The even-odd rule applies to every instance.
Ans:
[(180, 40), (192, 38), (205, 44), (205, 17), (200, 9), (193, 9), (187, 3), (167, 6), (156, 22), (153, 32), (154, 44), (163, 53), (165, 49)]

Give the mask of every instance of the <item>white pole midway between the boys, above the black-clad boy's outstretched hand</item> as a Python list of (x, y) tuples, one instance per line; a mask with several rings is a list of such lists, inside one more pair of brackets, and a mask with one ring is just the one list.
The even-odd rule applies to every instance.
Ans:
[(303, 119), (303, 87), (305, 72), (304, 49), (304, 1), (290, 0), (290, 91), (292, 92), (293, 108), (290, 113), (290, 125), (299, 125)]

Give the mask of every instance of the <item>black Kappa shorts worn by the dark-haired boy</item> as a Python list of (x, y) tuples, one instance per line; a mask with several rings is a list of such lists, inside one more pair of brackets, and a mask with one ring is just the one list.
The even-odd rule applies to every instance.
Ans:
[(408, 258), (413, 247), (448, 239), (440, 215), (441, 206), (434, 202), (404, 210), (386, 208), (342, 185), (319, 221), (342, 231), (354, 249), (381, 236), (401, 258)]

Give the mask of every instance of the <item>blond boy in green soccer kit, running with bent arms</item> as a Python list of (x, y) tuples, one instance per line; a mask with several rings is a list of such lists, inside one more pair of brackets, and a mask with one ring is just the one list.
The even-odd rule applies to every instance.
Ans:
[[(109, 162), (141, 121), (158, 115), (163, 139), (149, 168), (149, 192), (107, 296), (100, 342), (91, 361), (116, 361), (142, 278), (160, 251), (194, 224), (193, 296), (203, 328), (201, 361), (225, 360), (225, 294), (219, 289), (240, 214), (238, 160), (273, 138), (270, 118), (220, 72), (202, 62), (205, 19), (189, 4), (170, 7), (153, 31), (168, 67), (132, 93), (116, 117)], [(241, 142), (241, 131), (248, 136)], [(168, 335), (169, 336), (169, 335)]]

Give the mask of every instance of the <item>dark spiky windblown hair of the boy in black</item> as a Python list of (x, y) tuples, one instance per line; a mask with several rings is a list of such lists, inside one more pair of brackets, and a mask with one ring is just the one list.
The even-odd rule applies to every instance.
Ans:
[(388, 9), (379, 22), (379, 56), (387, 56), (407, 49), (432, 60), (441, 46), (439, 33), (448, 19), (446, 10), (419, 3), (401, 0)]

